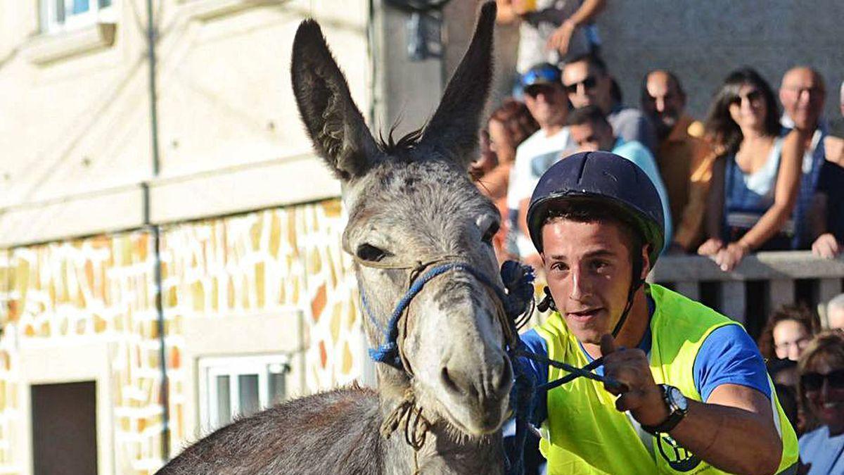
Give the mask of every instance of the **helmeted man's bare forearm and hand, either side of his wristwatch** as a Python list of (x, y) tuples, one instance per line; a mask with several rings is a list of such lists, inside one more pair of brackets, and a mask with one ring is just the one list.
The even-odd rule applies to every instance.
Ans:
[[(645, 352), (617, 351), (612, 336), (601, 341), (604, 374), (625, 387), (606, 387), (618, 395), (615, 406), (639, 423), (658, 425), (668, 418), (662, 391), (653, 380)], [(713, 467), (731, 473), (773, 473), (782, 441), (769, 400), (759, 390), (724, 384), (706, 402), (689, 401), (689, 412), (670, 432), (679, 445)]]

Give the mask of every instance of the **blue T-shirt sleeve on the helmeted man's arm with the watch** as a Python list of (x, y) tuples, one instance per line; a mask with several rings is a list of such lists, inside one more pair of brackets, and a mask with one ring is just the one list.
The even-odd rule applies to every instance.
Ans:
[(712, 330), (695, 358), (695, 388), (703, 401), (720, 385), (743, 385), (771, 399), (765, 360), (755, 342), (738, 325)]

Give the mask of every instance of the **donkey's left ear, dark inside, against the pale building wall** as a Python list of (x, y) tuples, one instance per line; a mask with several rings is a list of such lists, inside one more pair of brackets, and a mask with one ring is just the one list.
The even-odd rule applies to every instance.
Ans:
[(375, 139), (312, 19), (296, 30), (290, 74), (296, 105), (317, 154), (344, 181), (365, 174), (379, 156)]

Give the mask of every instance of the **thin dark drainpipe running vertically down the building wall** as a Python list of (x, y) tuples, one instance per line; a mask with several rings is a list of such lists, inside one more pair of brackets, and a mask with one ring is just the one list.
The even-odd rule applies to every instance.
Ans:
[[(153, 177), (160, 172), (159, 136), (158, 136), (158, 88), (156, 87), (155, 41), (157, 30), (153, 18), (153, 0), (147, 0), (147, 58), (149, 60), (149, 133), (152, 140)], [(161, 228), (150, 220), (149, 182), (143, 183), (143, 224), (153, 237), (155, 313), (158, 317), (159, 362), (161, 369), (160, 399), (161, 413), (161, 456), (170, 460), (170, 382), (167, 378), (167, 349), (165, 347), (164, 299), (161, 285)]]

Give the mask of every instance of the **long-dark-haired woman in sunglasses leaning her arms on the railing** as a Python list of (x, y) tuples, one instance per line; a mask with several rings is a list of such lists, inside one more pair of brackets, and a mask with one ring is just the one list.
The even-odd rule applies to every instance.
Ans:
[(729, 74), (712, 101), (706, 133), (725, 154), (712, 167), (708, 239), (698, 254), (733, 270), (756, 250), (792, 248), (803, 139), (780, 137), (771, 86), (751, 68)]

